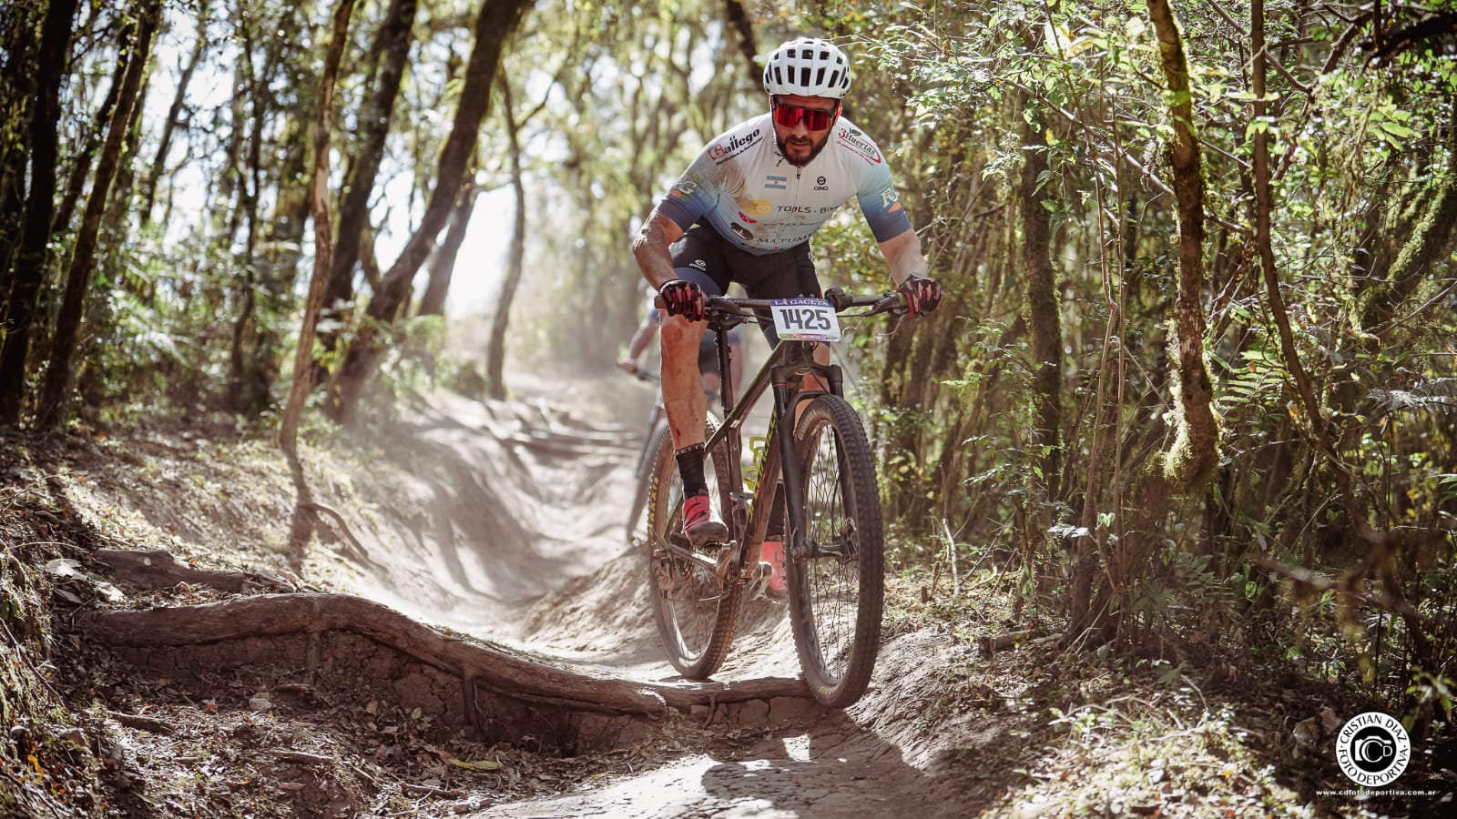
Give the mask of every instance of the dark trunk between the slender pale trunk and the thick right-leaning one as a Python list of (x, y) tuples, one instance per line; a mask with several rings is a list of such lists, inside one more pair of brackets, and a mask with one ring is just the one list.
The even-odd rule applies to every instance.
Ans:
[[(339, 230), (334, 246), (334, 261), (329, 265), (329, 281), (323, 290), (323, 309), (329, 312), (335, 329), (319, 334), (325, 351), (338, 344), (339, 329), (348, 319), (348, 303), (354, 300), (354, 265), (360, 261), (364, 229), (369, 226), (370, 197), (379, 176), (380, 160), (385, 156), (385, 140), (389, 136), (395, 99), (405, 77), (409, 60), (409, 29), (415, 20), (415, 0), (390, 0), (385, 20), (374, 38), (373, 52), (382, 54), (379, 85), (370, 95), (369, 105), (360, 115), (360, 147), (354, 157), (344, 198), (339, 203)], [(312, 364), (313, 386), (328, 377), (323, 366)]]

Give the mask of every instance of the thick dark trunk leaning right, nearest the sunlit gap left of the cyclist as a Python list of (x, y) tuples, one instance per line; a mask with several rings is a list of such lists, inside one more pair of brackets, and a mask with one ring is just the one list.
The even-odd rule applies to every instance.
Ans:
[(339, 423), (350, 423), (358, 405), (364, 382), (373, 375), (374, 363), (383, 347), (380, 326), (392, 324), (401, 303), (409, 293), (409, 283), (424, 264), (436, 235), (444, 227), (460, 192), (465, 169), (475, 156), (481, 121), (490, 108), (491, 85), (500, 66), (506, 39), (516, 31), (527, 0), (484, 0), (475, 22), (475, 47), (466, 64), (465, 85), (460, 90), (460, 105), (444, 149), (440, 152), (440, 166), (436, 173), (436, 189), (425, 205), (420, 229), (405, 243), (405, 249), (380, 280), (380, 289), (370, 299), (366, 313), (372, 322), (360, 328), (358, 337), (350, 345), (339, 376), (329, 391), (325, 411)]

